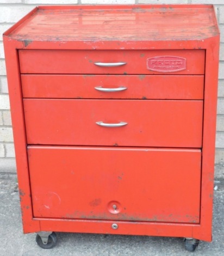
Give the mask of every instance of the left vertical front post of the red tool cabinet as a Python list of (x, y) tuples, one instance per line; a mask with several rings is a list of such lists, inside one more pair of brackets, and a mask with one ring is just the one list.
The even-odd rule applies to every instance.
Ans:
[(39, 221), (33, 220), (32, 200), (30, 197), (29, 172), (26, 151), (26, 131), (23, 117), (23, 103), (18, 65), (17, 48), (21, 42), (10, 40), (4, 36), (5, 59), (7, 67), (11, 118), (13, 122), (14, 144), (18, 187), (20, 192), (21, 212), (24, 233), (39, 231)]

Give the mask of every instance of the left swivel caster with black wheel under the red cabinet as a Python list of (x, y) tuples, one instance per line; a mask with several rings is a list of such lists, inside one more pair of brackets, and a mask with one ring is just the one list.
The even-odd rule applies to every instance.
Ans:
[(36, 243), (43, 249), (51, 249), (57, 243), (57, 236), (54, 232), (40, 231), (36, 235)]

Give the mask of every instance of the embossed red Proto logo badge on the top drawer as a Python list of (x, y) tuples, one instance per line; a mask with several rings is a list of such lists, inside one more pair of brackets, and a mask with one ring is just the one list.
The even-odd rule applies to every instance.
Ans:
[(186, 59), (176, 56), (157, 56), (147, 59), (147, 69), (157, 72), (177, 72), (186, 69)]

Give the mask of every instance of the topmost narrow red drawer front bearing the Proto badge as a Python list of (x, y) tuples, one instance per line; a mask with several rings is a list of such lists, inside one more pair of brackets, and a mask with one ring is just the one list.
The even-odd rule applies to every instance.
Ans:
[[(204, 74), (204, 50), (19, 50), (22, 74)], [(153, 57), (154, 65), (162, 71), (148, 69)], [(169, 56), (169, 57), (167, 57)], [(173, 56), (176, 60), (173, 60)], [(181, 58), (181, 60), (180, 60)], [(183, 63), (182, 63), (183, 62)], [(126, 63), (121, 66), (98, 66), (96, 63)], [(170, 63), (170, 64), (169, 64)], [(178, 64), (182, 63), (182, 64)], [(183, 64), (185, 68), (183, 69)], [(181, 71), (171, 72), (173, 67)], [(171, 67), (171, 68), (169, 68)], [(165, 68), (164, 70), (167, 70)]]

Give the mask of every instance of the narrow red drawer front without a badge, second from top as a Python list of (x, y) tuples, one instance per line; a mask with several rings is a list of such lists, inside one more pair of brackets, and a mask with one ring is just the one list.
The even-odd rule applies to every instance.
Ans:
[(204, 76), (21, 75), (23, 97), (202, 100)]

